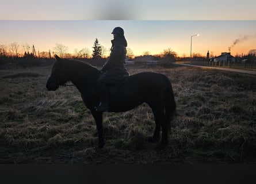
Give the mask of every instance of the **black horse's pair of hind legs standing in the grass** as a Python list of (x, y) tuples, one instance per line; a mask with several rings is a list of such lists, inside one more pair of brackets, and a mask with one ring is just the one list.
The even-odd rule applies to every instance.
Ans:
[(167, 144), (167, 121), (165, 117), (165, 111), (163, 107), (157, 107), (152, 109), (155, 117), (155, 131), (153, 135), (153, 140), (159, 140), (160, 137), (160, 127), (162, 127), (162, 140), (161, 144)]

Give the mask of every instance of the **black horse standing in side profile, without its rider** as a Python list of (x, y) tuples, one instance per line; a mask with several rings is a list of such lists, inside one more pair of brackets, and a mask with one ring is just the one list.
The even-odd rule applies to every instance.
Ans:
[[(90, 109), (96, 122), (98, 147), (103, 147), (102, 112), (97, 112), (94, 109), (100, 102), (96, 83), (101, 71), (79, 60), (60, 59), (57, 55), (55, 58), (56, 62), (47, 81), (47, 89), (55, 91), (68, 81), (77, 87), (83, 102)], [(116, 93), (109, 97), (109, 112), (125, 112), (136, 108), (143, 102), (150, 106), (155, 117), (155, 131), (152, 140), (159, 140), (162, 127), (161, 143), (166, 145), (167, 132), (175, 115), (176, 104), (171, 82), (165, 75), (142, 72), (129, 76), (128, 81), (120, 85)]]

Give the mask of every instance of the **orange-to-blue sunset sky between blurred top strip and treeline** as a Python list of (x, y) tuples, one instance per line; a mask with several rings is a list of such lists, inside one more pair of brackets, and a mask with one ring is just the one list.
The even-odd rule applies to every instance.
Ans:
[(19, 52), (23, 55), (23, 45), (26, 43), (30, 49), (35, 45), (36, 52), (50, 50), (51, 53), (55, 44), (59, 43), (67, 46), (70, 54), (87, 48), (91, 55), (93, 42), (97, 37), (105, 49), (104, 55), (108, 56), (110, 40), (113, 39), (110, 32), (114, 26), (120, 25), (125, 30), (128, 48), (135, 56), (141, 56), (145, 52), (161, 55), (164, 49), (171, 48), (178, 57), (189, 57), (191, 35), (194, 35), (192, 55), (198, 53), (206, 56), (209, 51), (210, 55), (218, 56), (221, 52), (230, 50), (231, 55), (235, 56), (246, 55), (251, 49), (256, 49), (255, 23), (256, 21), (0, 21), (0, 45), (9, 47), (11, 43), (17, 42), (20, 45)]

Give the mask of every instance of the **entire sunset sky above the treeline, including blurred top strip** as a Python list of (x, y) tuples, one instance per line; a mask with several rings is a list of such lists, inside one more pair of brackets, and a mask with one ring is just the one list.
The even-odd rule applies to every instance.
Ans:
[(124, 28), (135, 55), (171, 48), (178, 56), (189, 56), (190, 36), (197, 33), (193, 53), (220, 55), (231, 47), (232, 55), (240, 55), (256, 49), (256, 2), (251, 0), (0, 2), (0, 44), (34, 44), (40, 52), (52, 51), (56, 43), (70, 53), (92, 51), (96, 37), (109, 49), (116, 26)]

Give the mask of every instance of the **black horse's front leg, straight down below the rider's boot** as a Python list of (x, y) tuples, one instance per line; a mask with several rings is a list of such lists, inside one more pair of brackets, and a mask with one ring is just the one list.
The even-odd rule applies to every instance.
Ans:
[(96, 110), (91, 110), (91, 114), (96, 122), (96, 127), (98, 131), (98, 147), (102, 148), (105, 144), (103, 137), (103, 127), (102, 127), (102, 112), (98, 112)]

